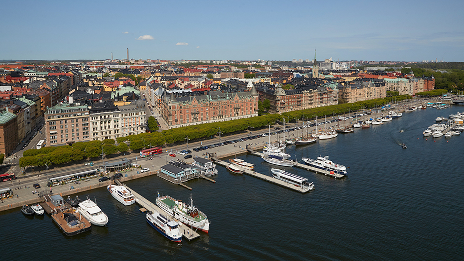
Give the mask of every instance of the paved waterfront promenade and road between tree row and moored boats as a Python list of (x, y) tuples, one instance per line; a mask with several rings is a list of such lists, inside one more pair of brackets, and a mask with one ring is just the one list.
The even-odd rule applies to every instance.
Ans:
[[(397, 107), (396, 109), (398, 111), (403, 111), (404, 106), (407, 107), (408, 105), (410, 105), (410, 103), (405, 103), (403, 105), (403, 107)], [(351, 115), (353, 113), (354, 112), (351, 112)], [(414, 113), (414, 112), (412, 112), (412, 113)], [(381, 116), (381, 113), (372, 113), (371, 115), (368, 115), (366, 117), (379, 117), (379, 116)], [(327, 120), (329, 120), (329, 119), (332, 119), (332, 117), (327, 118)], [(351, 119), (351, 121), (353, 121), (353, 120), (354, 119)], [(323, 119), (321, 119), (319, 122), (322, 122), (322, 121), (323, 121)], [(350, 120), (347, 120), (345, 122), (345, 124), (348, 125), (349, 121)], [(329, 127), (337, 128), (338, 126), (343, 126), (343, 124), (344, 124), (343, 121), (338, 121), (338, 122), (335, 122), (335, 123), (327, 124), (326, 127), (328, 127), (328, 128)], [(306, 124), (304, 122), (299, 121), (296, 124), (295, 123), (286, 124), (286, 128), (292, 128), (292, 127), (295, 127), (295, 126), (302, 126), (302, 125), (306, 125)], [(319, 129), (323, 128), (323, 127), (324, 127), (323, 125), (318, 126)], [(315, 128), (316, 127), (290, 131), (290, 132), (285, 133), (285, 137), (286, 138), (294, 138), (294, 137), (299, 137), (299, 136), (302, 136), (302, 135), (306, 135), (307, 130), (308, 130), (308, 132), (311, 132), (311, 131), (314, 131)], [(274, 130), (271, 130), (271, 131), (274, 131)], [(114, 157), (111, 160), (106, 159), (105, 161), (117, 161), (120, 158), (125, 157), (125, 158), (128, 158), (128, 159), (133, 159), (133, 163), (137, 163), (137, 164), (141, 165), (142, 168), (147, 168), (147, 167), (150, 168), (150, 172), (145, 172), (145, 173), (137, 173), (137, 171), (140, 172), (140, 169), (135, 169), (135, 168), (133, 168), (132, 171), (128, 171), (128, 172), (123, 173), (123, 177), (121, 178), (121, 182), (125, 182), (125, 181), (131, 180), (131, 179), (142, 178), (142, 177), (146, 177), (146, 176), (150, 176), (150, 175), (156, 175), (157, 171), (161, 168), (161, 166), (167, 164), (171, 159), (173, 159), (173, 160), (177, 160), (177, 159), (184, 160), (184, 156), (180, 155), (180, 154), (177, 154), (177, 153), (176, 153), (176, 157), (170, 157), (168, 154), (171, 151), (173, 153), (175, 153), (175, 152), (177, 152), (179, 150), (182, 150), (182, 149), (192, 149), (192, 148), (197, 148), (197, 147), (199, 147), (201, 145), (205, 146), (205, 145), (210, 145), (210, 144), (216, 144), (216, 143), (219, 143), (219, 142), (235, 140), (235, 139), (244, 138), (244, 137), (251, 136), (251, 135), (257, 135), (257, 134), (268, 133), (268, 132), (269, 132), (269, 129), (264, 128), (264, 129), (262, 129), (260, 131), (253, 131), (253, 132), (248, 131), (246, 133), (241, 133), (241, 134), (222, 137), (221, 140), (219, 140), (219, 138), (215, 138), (215, 139), (210, 139), (210, 140), (203, 141), (203, 142), (189, 143), (188, 145), (185, 144), (185, 145), (178, 145), (178, 146), (174, 146), (174, 147), (164, 148), (164, 152), (162, 154), (160, 154), (160, 155), (155, 155), (153, 157), (153, 160), (148, 160), (147, 158), (141, 159), (137, 153), (130, 153), (129, 155), (122, 155), (122, 156), (119, 156), (119, 157)], [(418, 135), (420, 135), (420, 134), (418, 133)], [(279, 135), (272, 135), (271, 136), (271, 142), (274, 142), (277, 139), (281, 140), (282, 138), (283, 138), (282, 134), (280, 134), (280, 137), (279, 137)], [(193, 157), (204, 157), (203, 154), (205, 152), (207, 152), (207, 153), (216, 152), (216, 155), (217, 155), (218, 158), (224, 158), (224, 157), (238, 155), (238, 154), (241, 154), (241, 153), (246, 153), (246, 145), (250, 145), (250, 147), (252, 147), (253, 149), (261, 149), (267, 142), (269, 142), (269, 137), (262, 137), (262, 138), (258, 138), (258, 139), (254, 139), (254, 140), (247, 140), (247, 141), (243, 141), (243, 142), (239, 142), (239, 143), (235, 143), (235, 144), (229, 144), (229, 145), (225, 145), (225, 146), (221, 146), (221, 147), (215, 147), (215, 148), (212, 148), (212, 149), (207, 149), (205, 151), (202, 151), (202, 150), (200, 150), (199, 152), (192, 151), (192, 155), (193, 155)], [(169, 152), (169, 153), (166, 153), (166, 152)], [(137, 160), (135, 159), (136, 156), (137, 156)], [(297, 159), (297, 160), (300, 160), (300, 159)], [(193, 158), (186, 159), (185, 162), (186, 163), (192, 163)], [(66, 173), (66, 174), (68, 174), (68, 173), (77, 173), (77, 172), (86, 170), (82, 165), (83, 164), (72, 165), (72, 166), (67, 166), (67, 167), (63, 167), (63, 168), (55, 168), (58, 171), (50, 171), (50, 169), (49, 169), (48, 170), (48, 175), (49, 176), (54, 175), (54, 174), (55, 175), (57, 175), (57, 174), (64, 175), (63, 173)], [(90, 169), (90, 168), (95, 169), (95, 168), (98, 168), (100, 165), (103, 165), (102, 161), (94, 162), (94, 166), (93, 167), (88, 167), (88, 169)], [(212, 178), (214, 179), (214, 176)], [(39, 189), (36, 189), (36, 188), (34, 188), (32, 186), (33, 184), (36, 184), (36, 183), (40, 184), (41, 187)], [(91, 190), (91, 189), (95, 189), (95, 188), (99, 188), (99, 187), (103, 187), (103, 186), (108, 186), (108, 184), (109, 184), (109, 181), (98, 182), (98, 179), (90, 179), (90, 180), (88, 180), (86, 182), (81, 181), (79, 184), (68, 184), (68, 185), (63, 185), (63, 186), (54, 186), (54, 187), (52, 187), (51, 192), (53, 194), (61, 193), (63, 197), (65, 197), (65, 196), (67, 197), (67, 195), (75, 195), (76, 193), (80, 193), (82, 191), (87, 191), (87, 190)], [(12, 188), (13, 193), (15, 194), (15, 196), (13, 196), (12, 198), (4, 199), (3, 202), (0, 203), (0, 211), (20, 207), (20, 206), (22, 206), (24, 204), (33, 204), (33, 203), (39, 202), (40, 201), (39, 195), (38, 194), (33, 194), (33, 191), (37, 190), (38, 192), (49, 193), (50, 188), (48, 188), (46, 185), (47, 185), (47, 175), (46, 175), (46, 173), (44, 173), (44, 171), (42, 171), (40, 173), (40, 175), (37, 175), (37, 172), (35, 174), (27, 173), (27, 175), (21, 175), (19, 177), (19, 179), (15, 180), (15, 181), (9, 181), (9, 182), (1, 183), (0, 184), (0, 189), (1, 188), (7, 188), (7, 187)], [(193, 189), (194, 189), (194, 187), (193, 187)]]

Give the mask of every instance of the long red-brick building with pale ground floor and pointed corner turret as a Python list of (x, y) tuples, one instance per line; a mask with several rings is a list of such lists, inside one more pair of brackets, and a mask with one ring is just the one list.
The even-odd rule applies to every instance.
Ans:
[(201, 95), (175, 96), (163, 92), (161, 115), (169, 128), (249, 118), (258, 115), (258, 92), (209, 91)]

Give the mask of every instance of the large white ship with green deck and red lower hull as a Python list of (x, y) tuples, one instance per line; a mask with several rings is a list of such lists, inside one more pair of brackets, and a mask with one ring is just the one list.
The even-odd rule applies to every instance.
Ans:
[(159, 196), (156, 198), (156, 205), (167, 213), (173, 215), (178, 221), (198, 228), (199, 230), (209, 233), (208, 217), (193, 206), (192, 194), (190, 194), (190, 204), (185, 204), (182, 200), (177, 200), (170, 196)]

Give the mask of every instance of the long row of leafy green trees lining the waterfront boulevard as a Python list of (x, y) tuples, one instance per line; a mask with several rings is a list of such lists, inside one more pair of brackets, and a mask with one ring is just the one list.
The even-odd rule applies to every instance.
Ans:
[[(129, 135), (118, 137), (116, 141), (107, 139), (103, 141), (77, 142), (71, 146), (44, 147), (41, 149), (28, 149), (24, 151), (23, 157), (19, 159), (19, 166), (27, 168), (29, 166), (60, 165), (70, 162), (77, 162), (85, 159), (98, 160), (105, 156), (116, 153), (124, 153), (131, 150), (140, 150), (153, 147), (171, 146), (185, 142), (187, 139), (191, 142), (210, 139), (221, 132), (224, 136), (238, 134), (246, 131), (250, 127), (254, 129), (264, 128), (266, 126), (293, 120), (309, 120), (315, 117), (332, 116), (345, 114), (347, 112), (356, 112), (377, 108), (392, 101), (402, 101), (412, 98), (409, 95), (391, 96), (384, 99), (374, 99), (356, 103), (345, 103), (331, 105), (319, 108), (312, 108), (293, 112), (283, 112), (282, 114), (266, 114), (251, 118), (242, 118), (235, 120), (219, 121), (212, 123), (203, 123), (190, 125), (180, 128), (163, 130), (162, 132), (141, 133), (138, 135)], [(118, 145), (116, 145), (116, 142)], [(129, 142), (129, 146), (126, 145)]]

